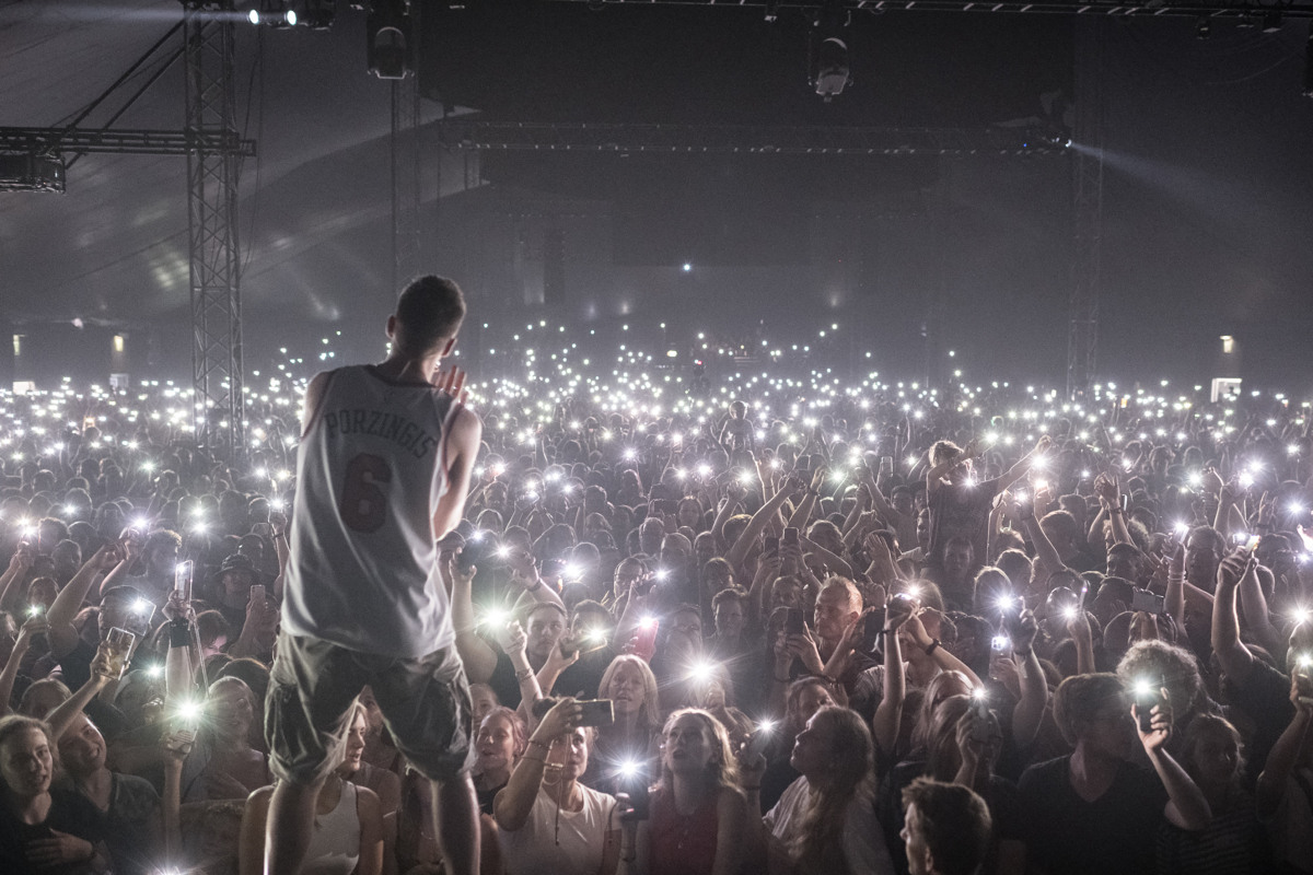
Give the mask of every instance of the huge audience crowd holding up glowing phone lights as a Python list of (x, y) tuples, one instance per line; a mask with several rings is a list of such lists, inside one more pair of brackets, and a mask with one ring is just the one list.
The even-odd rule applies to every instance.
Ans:
[[(482, 376), (433, 584), (481, 871), (1313, 872), (1306, 405)], [(263, 871), (305, 392), (240, 457), (171, 388), (4, 399), (0, 871)], [(398, 698), (351, 706), (302, 871), (441, 871)]]

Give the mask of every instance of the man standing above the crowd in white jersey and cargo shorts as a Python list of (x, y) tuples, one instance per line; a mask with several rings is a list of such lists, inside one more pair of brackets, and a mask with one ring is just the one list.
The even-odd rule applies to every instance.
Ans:
[(478, 868), (470, 693), (436, 546), (463, 513), (483, 430), (462, 404), (465, 375), (439, 371), (463, 317), (454, 282), (420, 277), (387, 319), (387, 359), (319, 374), (306, 391), (265, 707), (278, 778), (269, 875), (298, 871), (319, 787), (365, 685), (398, 749), (435, 784), (435, 836), (448, 872)]

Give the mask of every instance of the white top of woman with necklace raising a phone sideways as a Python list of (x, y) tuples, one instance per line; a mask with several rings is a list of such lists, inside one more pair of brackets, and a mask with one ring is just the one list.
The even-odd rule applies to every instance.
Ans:
[(583, 791), (583, 811), (561, 809), (559, 832), (557, 803), (546, 787), (538, 790), (524, 826), (513, 833), (498, 830), (506, 875), (596, 875), (601, 868), (607, 830), (620, 829), (616, 798), (576, 786)]

